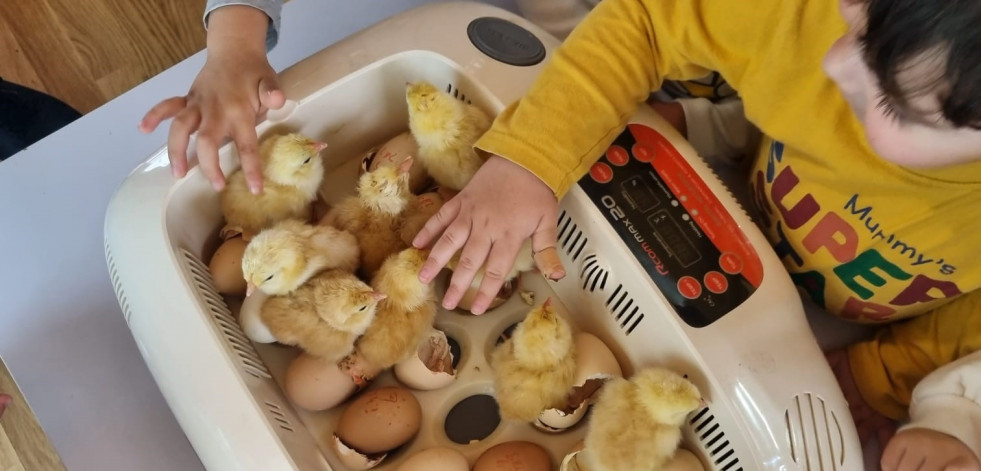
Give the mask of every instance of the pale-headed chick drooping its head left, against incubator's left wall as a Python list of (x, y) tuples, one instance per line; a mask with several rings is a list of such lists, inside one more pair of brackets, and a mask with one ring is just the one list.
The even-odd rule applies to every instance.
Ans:
[(339, 268), (354, 272), (361, 249), (353, 234), (296, 219), (276, 223), (255, 236), (242, 256), (246, 294), (292, 292), (317, 273)]

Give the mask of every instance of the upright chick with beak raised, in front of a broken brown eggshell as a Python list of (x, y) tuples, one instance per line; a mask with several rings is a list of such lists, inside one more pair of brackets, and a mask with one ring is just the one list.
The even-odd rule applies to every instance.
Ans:
[(494, 392), (501, 417), (530, 422), (565, 403), (576, 372), (572, 328), (552, 300), (532, 309), (494, 349)]

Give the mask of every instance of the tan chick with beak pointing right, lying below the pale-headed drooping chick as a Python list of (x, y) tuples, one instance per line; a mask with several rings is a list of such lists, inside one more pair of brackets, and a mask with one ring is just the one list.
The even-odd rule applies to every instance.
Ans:
[(290, 294), (267, 299), (260, 318), (279, 342), (335, 362), (354, 350), (383, 299), (354, 274), (328, 270)]

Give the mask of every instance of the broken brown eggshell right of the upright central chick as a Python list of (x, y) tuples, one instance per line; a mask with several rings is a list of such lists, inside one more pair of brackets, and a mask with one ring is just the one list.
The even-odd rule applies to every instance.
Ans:
[(613, 352), (598, 337), (588, 332), (579, 332), (575, 334), (574, 340), (575, 386), (569, 391), (565, 407), (546, 409), (533, 422), (536, 428), (544, 432), (561, 432), (579, 423), (589, 406), (596, 401), (606, 380), (623, 376), (623, 370)]

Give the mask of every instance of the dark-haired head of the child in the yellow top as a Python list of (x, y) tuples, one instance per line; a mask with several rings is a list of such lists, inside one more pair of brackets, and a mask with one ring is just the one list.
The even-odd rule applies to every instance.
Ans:
[(841, 0), (849, 31), (824, 69), (881, 157), (981, 160), (981, 0)]

